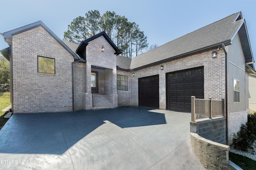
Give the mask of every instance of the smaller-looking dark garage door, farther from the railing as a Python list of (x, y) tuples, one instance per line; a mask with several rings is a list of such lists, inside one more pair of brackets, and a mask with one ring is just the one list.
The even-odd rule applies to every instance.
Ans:
[(159, 108), (159, 76), (139, 78), (139, 106)]

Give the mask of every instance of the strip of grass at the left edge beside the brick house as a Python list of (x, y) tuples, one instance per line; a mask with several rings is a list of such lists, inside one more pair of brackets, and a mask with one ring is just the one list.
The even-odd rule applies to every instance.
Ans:
[(4, 118), (4, 115), (8, 113), (6, 112), (1, 112), (2, 109), (5, 109), (11, 105), (10, 103), (10, 93), (0, 93), (0, 129), (4, 126), (4, 124), (8, 121), (8, 119)]

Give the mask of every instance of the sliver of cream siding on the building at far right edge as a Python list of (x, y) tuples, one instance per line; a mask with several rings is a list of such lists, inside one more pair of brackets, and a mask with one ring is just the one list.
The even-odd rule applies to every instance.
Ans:
[(249, 74), (249, 108), (256, 111), (256, 75)]

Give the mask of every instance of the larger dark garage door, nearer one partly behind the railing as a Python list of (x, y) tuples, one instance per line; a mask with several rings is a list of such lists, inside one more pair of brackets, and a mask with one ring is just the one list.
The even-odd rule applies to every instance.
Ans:
[(191, 111), (191, 96), (204, 98), (204, 68), (166, 74), (167, 109)]

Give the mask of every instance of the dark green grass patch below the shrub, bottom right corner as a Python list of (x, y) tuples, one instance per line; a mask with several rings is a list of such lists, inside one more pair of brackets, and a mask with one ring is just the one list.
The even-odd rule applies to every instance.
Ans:
[(256, 170), (256, 161), (246, 156), (229, 152), (229, 160), (234, 162), (237, 166), (243, 170)]

